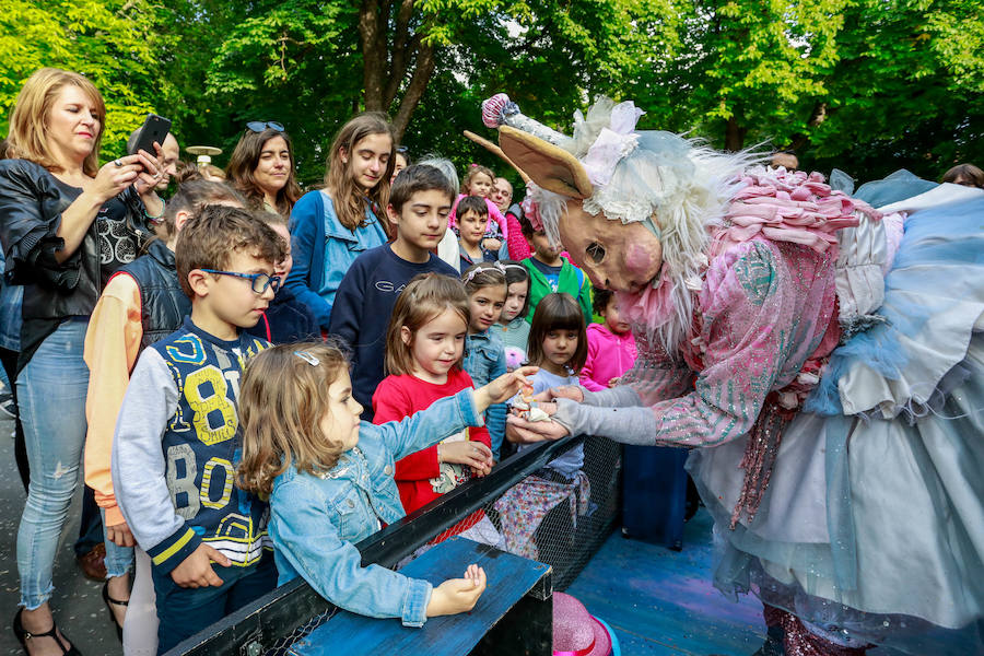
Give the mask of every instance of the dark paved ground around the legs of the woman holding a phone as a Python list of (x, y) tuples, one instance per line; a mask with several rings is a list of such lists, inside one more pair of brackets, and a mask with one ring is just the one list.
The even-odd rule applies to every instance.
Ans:
[[(0, 655), (5, 656), (22, 654), (10, 626), (19, 599), (15, 544), (24, 490), (13, 459), (13, 422), (5, 414), (0, 418)], [(89, 581), (75, 567), (72, 544), (79, 535), (81, 499), (81, 494), (75, 496), (71, 520), (58, 547), (51, 600), (55, 619), (84, 656), (121, 654), (103, 605), (102, 585)]]

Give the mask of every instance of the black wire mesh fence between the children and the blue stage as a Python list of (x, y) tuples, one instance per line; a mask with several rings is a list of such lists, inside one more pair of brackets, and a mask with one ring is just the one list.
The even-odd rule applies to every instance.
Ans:
[[(505, 458), (471, 480), (384, 528), (356, 547), (363, 565), (398, 569), (459, 535), (553, 567), (553, 588), (577, 577), (618, 518), (621, 446), (606, 438), (566, 438)], [(550, 462), (584, 448), (572, 476)], [(279, 588), (168, 654), (288, 656), (338, 609), (301, 582)]]

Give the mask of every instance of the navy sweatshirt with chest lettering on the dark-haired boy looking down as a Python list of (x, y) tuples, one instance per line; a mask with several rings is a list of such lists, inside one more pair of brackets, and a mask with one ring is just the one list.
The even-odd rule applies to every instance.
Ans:
[(384, 244), (355, 258), (338, 288), (328, 331), (351, 349), (352, 395), (362, 403), (365, 421), (373, 420), (373, 394), (384, 378), (386, 330), (397, 296), (414, 276), (430, 272), (458, 278), (454, 267), (436, 255), (418, 265)]

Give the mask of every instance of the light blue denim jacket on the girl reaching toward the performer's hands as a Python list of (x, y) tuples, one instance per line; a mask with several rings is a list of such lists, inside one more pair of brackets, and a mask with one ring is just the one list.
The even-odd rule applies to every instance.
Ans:
[(362, 422), (359, 445), (329, 471), (298, 473), (292, 465), (273, 481), (270, 495), (278, 583), (301, 575), (340, 608), (422, 626), (431, 584), (379, 565), (363, 567), (354, 542), (403, 517), (393, 479), (396, 460), (480, 425), (473, 390), (465, 389), (398, 422)]

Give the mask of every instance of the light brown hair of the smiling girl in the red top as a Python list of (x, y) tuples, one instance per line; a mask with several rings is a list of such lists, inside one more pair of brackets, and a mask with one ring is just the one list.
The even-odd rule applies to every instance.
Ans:
[[(403, 376), (413, 372), (411, 349), (417, 331), (446, 309), (461, 317), (467, 328), (470, 320), (468, 295), (465, 286), (448, 276), (421, 273), (400, 292), (386, 331), (385, 368), (388, 375)], [(403, 326), (410, 330), (410, 343), (403, 342)], [(455, 363), (456, 368), (461, 367), (464, 358), (462, 353)]]

